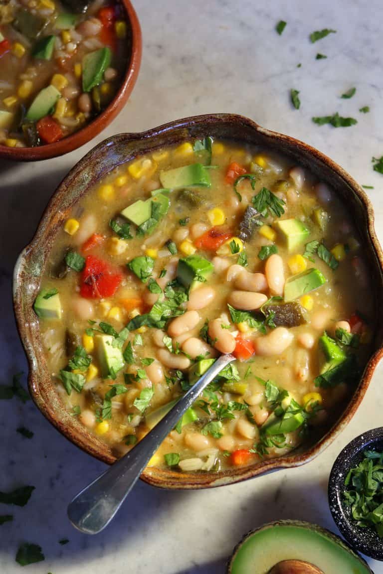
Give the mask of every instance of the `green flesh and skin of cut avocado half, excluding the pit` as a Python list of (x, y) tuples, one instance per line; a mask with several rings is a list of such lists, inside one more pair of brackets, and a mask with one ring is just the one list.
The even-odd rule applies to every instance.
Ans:
[(329, 530), (309, 522), (269, 522), (246, 534), (227, 565), (227, 574), (268, 574), (283, 560), (302, 560), (323, 574), (373, 574), (367, 563)]

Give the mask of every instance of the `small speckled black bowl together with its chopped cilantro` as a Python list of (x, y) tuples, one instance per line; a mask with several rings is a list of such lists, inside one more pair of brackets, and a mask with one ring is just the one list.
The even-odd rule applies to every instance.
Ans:
[(331, 469), (328, 502), (332, 518), (349, 544), (383, 561), (381, 453), (383, 427), (367, 430), (347, 444)]

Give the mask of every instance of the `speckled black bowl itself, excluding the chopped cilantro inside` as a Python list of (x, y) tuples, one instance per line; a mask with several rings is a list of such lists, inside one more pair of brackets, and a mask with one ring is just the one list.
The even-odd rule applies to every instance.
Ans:
[(339, 453), (328, 480), (328, 503), (332, 518), (347, 542), (366, 556), (383, 560), (383, 538), (371, 528), (357, 526), (350, 509), (343, 502), (347, 473), (362, 461), (366, 450), (383, 451), (383, 426), (357, 436)]

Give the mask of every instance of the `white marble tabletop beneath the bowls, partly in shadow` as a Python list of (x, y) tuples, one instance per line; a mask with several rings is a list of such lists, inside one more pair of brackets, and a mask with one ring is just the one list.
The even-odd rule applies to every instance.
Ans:
[[(92, 144), (40, 164), (0, 161), (1, 381), (26, 371), (11, 311), (11, 271), (41, 212), (69, 168), (103, 137), (141, 131), (187, 115), (235, 112), (303, 139), (338, 161), (368, 191), (383, 238), (383, 176), (372, 156), (383, 154), (381, 0), (136, 0), (144, 55), (136, 89), (123, 113)], [(288, 22), (283, 36), (274, 26)], [(335, 28), (315, 45), (308, 34)], [(315, 60), (317, 52), (327, 60)], [(301, 68), (297, 64), (301, 63)], [(351, 100), (339, 95), (357, 87)], [(301, 109), (289, 102), (300, 90)], [(358, 108), (370, 106), (369, 114)], [(339, 111), (358, 118), (346, 129), (318, 127), (312, 115)], [(327, 478), (339, 450), (381, 425), (382, 369), (347, 429), (312, 463), (211, 491), (165, 492), (140, 483), (118, 518), (96, 537), (76, 532), (68, 501), (104, 466), (59, 435), (34, 407), (0, 403), (0, 490), (33, 484), (24, 508), (0, 505), (14, 522), (0, 526), (0, 572), (14, 574), (21, 541), (36, 542), (46, 560), (30, 574), (223, 574), (225, 560), (247, 530), (278, 518), (317, 522), (336, 532), (327, 506)], [(25, 381), (25, 377), (24, 377)], [(35, 433), (16, 433), (24, 423)], [(59, 539), (68, 537), (61, 546)], [(376, 574), (382, 563), (371, 561)]]

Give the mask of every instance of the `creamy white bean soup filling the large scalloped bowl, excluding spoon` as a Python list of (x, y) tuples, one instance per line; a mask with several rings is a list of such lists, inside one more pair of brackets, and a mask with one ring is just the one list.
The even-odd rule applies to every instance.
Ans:
[(341, 201), (287, 158), (229, 142), (114, 169), (68, 216), (41, 289), (57, 392), (117, 456), (207, 359), (234, 351), (151, 466), (207, 472), (291, 452), (328, 428), (370, 354), (369, 280)]

